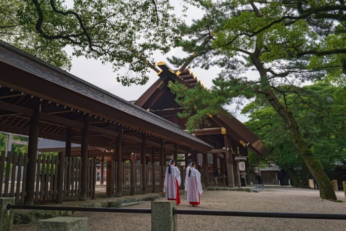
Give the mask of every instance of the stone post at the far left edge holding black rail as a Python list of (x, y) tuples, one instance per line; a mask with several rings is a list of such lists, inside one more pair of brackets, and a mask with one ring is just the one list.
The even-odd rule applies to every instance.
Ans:
[(14, 205), (15, 198), (0, 198), (0, 230), (12, 231), (13, 230), (13, 209), (7, 209), (7, 205)]

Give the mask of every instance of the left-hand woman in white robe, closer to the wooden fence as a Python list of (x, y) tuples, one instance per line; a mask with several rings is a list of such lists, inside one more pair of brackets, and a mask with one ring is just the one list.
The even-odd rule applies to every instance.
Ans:
[(176, 204), (180, 204), (179, 186), (181, 183), (180, 171), (174, 166), (175, 161), (170, 160), (166, 169), (164, 192), (168, 200), (176, 200)]

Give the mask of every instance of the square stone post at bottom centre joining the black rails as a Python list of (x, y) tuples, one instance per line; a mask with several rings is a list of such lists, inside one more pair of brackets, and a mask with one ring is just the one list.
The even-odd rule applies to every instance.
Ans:
[(151, 230), (152, 231), (176, 231), (177, 220), (173, 214), (176, 201), (151, 202)]

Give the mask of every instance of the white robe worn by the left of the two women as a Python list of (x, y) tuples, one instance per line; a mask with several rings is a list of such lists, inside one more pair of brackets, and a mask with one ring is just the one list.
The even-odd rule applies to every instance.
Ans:
[(180, 171), (177, 167), (171, 165), (171, 174), (168, 172), (169, 167), (166, 169), (165, 175), (165, 184), (164, 184), (164, 192), (166, 192), (166, 198), (176, 199), (176, 183), (177, 180), (178, 185), (180, 186)]

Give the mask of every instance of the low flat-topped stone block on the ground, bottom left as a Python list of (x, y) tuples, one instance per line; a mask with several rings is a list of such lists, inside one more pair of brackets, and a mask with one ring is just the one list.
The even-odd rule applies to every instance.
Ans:
[(87, 231), (89, 226), (87, 218), (55, 217), (40, 220), (38, 231)]

